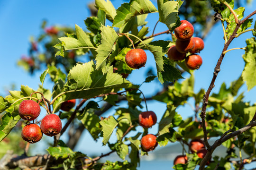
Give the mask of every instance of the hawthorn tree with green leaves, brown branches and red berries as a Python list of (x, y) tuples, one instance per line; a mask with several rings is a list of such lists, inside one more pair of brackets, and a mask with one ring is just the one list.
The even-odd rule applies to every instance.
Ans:
[[(239, 1), (236, 3), (239, 5)], [(245, 8), (238, 5), (235, 8), (233, 0), (157, 0), (155, 7), (150, 0), (131, 0), (115, 9), (110, 0), (95, 0), (96, 9), (91, 7), (94, 16), (84, 20), (86, 31), (77, 25), (74, 29), (46, 27), (47, 23), (44, 22), (42, 29), (45, 33), (31, 41), (29, 57), (18, 61), (30, 73), (46, 67), (38, 77), (42, 85), (36, 90), (29, 85), (21, 85), (20, 91), (9, 91), (8, 96), (0, 96), (0, 140), (9, 144), (9, 136), (26, 127), (26, 132), (22, 130), (21, 133), (28, 141), (26, 144), (20, 143), (21, 148), (24, 148), (23, 154), (20, 149), (16, 149), (21, 155), (9, 152), (2, 157), (1, 169), (134, 170), (139, 166), (140, 156), (148, 154), (157, 145), (165, 146), (169, 142), (179, 142), (183, 146), (183, 155), (178, 156), (183, 160), (175, 163), (175, 170), (192, 170), (196, 166), (200, 170), (242, 169), (245, 164), (256, 161), (256, 132), (253, 128), (256, 126), (256, 106), (244, 102), (243, 93), (238, 93), (244, 84), (248, 90), (256, 85), (256, 25), (251, 28), (256, 10), (243, 16)], [(158, 13), (159, 20), (150, 22), (164, 23), (166, 31), (155, 33), (153, 29), (152, 33), (149, 32), (145, 20), (151, 13)], [(200, 71), (201, 63), (196, 62), (200, 64), (195, 67), (187, 63), (191, 56), (199, 56), (193, 54), (198, 53), (198, 50), (179, 51), (184, 56), (176, 60), (168, 52), (173, 45), (177, 47), (178, 44), (184, 45), (188, 41), (181, 40), (176, 31), (174, 33), (184, 22), (180, 17), (194, 26), (193, 33), (183, 30), (182, 34), (200, 36), (202, 39), (216, 22), (223, 26), (223, 49), (219, 50), (221, 54), (216, 60), (212, 80), (208, 89), (201, 89), (198, 93), (193, 90), (193, 72)], [(247, 46), (230, 49), (229, 44), (246, 32), (252, 33), (252, 37), (246, 40)], [(154, 37), (161, 34), (167, 34), (172, 40), (154, 41)], [(188, 39), (192, 41), (193, 37)], [(44, 51), (39, 51), (37, 44), (44, 46)], [(139, 67), (128, 67), (126, 54), (132, 49), (150, 51), (155, 58), (156, 73), (149, 71), (140, 85), (127, 80), (127, 76), (134, 69), (145, 64), (142, 62)], [(182, 46), (182, 49), (185, 47)], [(241, 76), (230, 86), (223, 83), (219, 93), (211, 93), (225, 54), (237, 49), (245, 51), (245, 67)], [(89, 61), (80, 62), (81, 58)], [(191, 76), (184, 79), (183, 73)], [(54, 83), (52, 89), (44, 87), (47, 75)], [(163, 85), (163, 89), (154, 96), (145, 97), (140, 86), (155, 79)], [(100, 98), (104, 104), (100, 107), (93, 100), (95, 98)], [(194, 114), (183, 119), (176, 108), (184, 105), (189, 98), (195, 101)], [(47, 116), (47, 121), (37, 119), (38, 115), (34, 116), (30, 112), (28, 114), (28, 111), (23, 113), (19, 106), (26, 100), (36, 101), (35, 105), (46, 109), (47, 115), (44, 119)], [(101, 117), (104, 112), (124, 100), (128, 101), (127, 107), (118, 108), (107, 118)], [(141, 104), (149, 100), (166, 103), (166, 111), (162, 117), (157, 118), (157, 125), (155, 113), (147, 110), (147, 106), (143, 108)], [(141, 114), (145, 110), (146, 114)], [(55, 118), (49, 119), (50, 115)], [(26, 121), (21, 120), (21, 117)], [(36, 118), (32, 120), (31, 117)], [(58, 119), (65, 122), (63, 126)], [(52, 120), (54, 123), (49, 123)], [(28, 125), (35, 126), (37, 132), (32, 133), (32, 128)], [(30, 143), (40, 142), (43, 135), (37, 136), (35, 140), (33, 134), (39, 134), (36, 125), (41, 126), (44, 135), (54, 136), (54, 142), (46, 149), (47, 154), (29, 156), (27, 152), (32, 145)], [(142, 126), (144, 131), (138, 131), (138, 126)], [(150, 133), (151, 126), (158, 126), (157, 134)], [(61, 130), (59, 127), (62, 127)], [(74, 152), (73, 148), (84, 129), (88, 130), (94, 140), (103, 137), (102, 144), (111, 151), (92, 158), (86, 153)], [(130, 131), (134, 131), (136, 135), (127, 136)], [(110, 143), (110, 136), (114, 136), (114, 132), (116, 142)], [(67, 143), (61, 140), (65, 133), (69, 136)], [(210, 145), (209, 139), (212, 137), (218, 139)], [(146, 145), (145, 140), (150, 142), (146, 142)], [(219, 145), (227, 148), (227, 154), (212, 157)], [(246, 155), (237, 155), (237, 150), (240, 153), (245, 152)], [(102, 157), (111, 153), (117, 153), (123, 161), (100, 162)]]

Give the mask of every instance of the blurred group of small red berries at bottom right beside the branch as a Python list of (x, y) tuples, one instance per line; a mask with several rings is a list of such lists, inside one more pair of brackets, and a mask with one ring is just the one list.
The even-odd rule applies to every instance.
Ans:
[[(203, 158), (207, 153), (205, 144), (201, 139), (192, 139), (189, 143), (189, 149), (192, 153), (196, 153), (199, 158)], [(178, 163), (185, 164), (187, 162), (188, 162), (188, 157), (186, 155), (178, 155), (174, 159), (174, 165)]]

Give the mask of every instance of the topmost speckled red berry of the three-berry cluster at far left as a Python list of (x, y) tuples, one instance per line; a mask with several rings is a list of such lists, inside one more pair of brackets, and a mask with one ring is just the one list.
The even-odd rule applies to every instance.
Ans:
[(40, 112), (39, 104), (33, 100), (24, 100), (18, 106), (19, 116), (24, 120), (35, 120)]

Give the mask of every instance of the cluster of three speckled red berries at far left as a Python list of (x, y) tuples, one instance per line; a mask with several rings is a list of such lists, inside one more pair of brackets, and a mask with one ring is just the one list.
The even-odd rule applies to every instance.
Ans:
[[(37, 119), (41, 112), (39, 103), (33, 100), (24, 100), (19, 104), (19, 116), (27, 121)], [(55, 136), (61, 132), (61, 119), (55, 114), (48, 114), (42, 120), (40, 127), (35, 123), (29, 123), (22, 128), (21, 137), (23, 140), (33, 144), (41, 140), (43, 134)]]

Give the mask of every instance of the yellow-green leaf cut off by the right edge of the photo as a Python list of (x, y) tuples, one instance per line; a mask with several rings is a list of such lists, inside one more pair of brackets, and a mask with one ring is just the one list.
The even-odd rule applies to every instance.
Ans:
[(246, 53), (243, 55), (246, 64), (242, 78), (246, 82), (247, 89), (251, 90), (256, 85), (256, 40), (250, 38), (246, 40), (246, 43)]

